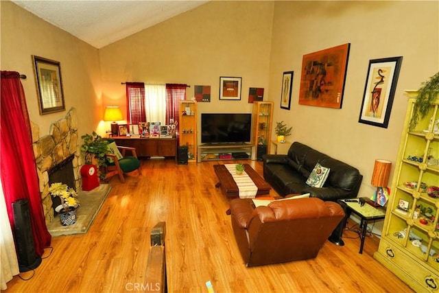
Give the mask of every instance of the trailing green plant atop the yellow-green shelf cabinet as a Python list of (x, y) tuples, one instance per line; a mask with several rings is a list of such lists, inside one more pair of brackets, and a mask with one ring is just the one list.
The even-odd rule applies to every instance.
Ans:
[(427, 116), (431, 104), (439, 95), (439, 72), (431, 76), (429, 80), (420, 84), (418, 96), (413, 106), (413, 115), (410, 119), (410, 130), (413, 130), (420, 119)]

